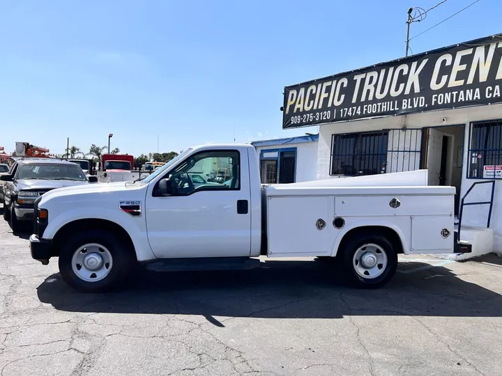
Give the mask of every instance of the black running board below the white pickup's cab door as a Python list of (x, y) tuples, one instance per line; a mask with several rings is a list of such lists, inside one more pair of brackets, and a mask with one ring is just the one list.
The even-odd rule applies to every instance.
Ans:
[(144, 263), (152, 272), (206, 272), (216, 270), (246, 270), (261, 267), (258, 258), (165, 258)]

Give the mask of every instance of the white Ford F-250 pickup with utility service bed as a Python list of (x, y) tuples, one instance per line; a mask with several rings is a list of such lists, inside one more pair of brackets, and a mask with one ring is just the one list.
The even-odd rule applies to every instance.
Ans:
[[(190, 180), (196, 164), (220, 162), (230, 180)], [(253, 146), (198, 146), (141, 181), (40, 196), (31, 256), (44, 265), (59, 257), (63, 280), (82, 292), (120, 285), (138, 263), (245, 269), (259, 256), (336, 258), (353, 284), (377, 287), (395, 274), (398, 253), (471, 251), (456, 240), (454, 194), (427, 187), (425, 170), (261, 185)]]

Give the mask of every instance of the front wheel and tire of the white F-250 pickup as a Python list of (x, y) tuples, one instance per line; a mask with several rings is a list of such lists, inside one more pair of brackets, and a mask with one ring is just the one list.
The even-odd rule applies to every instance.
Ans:
[(137, 263), (134, 250), (104, 230), (86, 230), (63, 242), (59, 272), (63, 281), (79, 292), (115, 290)]

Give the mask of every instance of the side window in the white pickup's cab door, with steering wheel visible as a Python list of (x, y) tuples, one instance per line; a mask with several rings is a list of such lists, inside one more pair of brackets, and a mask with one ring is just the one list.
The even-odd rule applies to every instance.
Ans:
[(226, 191), (241, 189), (240, 155), (237, 150), (207, 150), (185, 160), (167, 178), (176, 196), (197, 191)]

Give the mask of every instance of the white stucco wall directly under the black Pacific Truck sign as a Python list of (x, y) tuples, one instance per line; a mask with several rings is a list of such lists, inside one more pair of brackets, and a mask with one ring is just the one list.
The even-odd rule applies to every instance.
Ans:
[[(443, 118), (445, 118), (446, 121), (443, 121)], [(406, 127), (409, 129), (421, 129), (423, 127), (441, 125), (466, 125), (464, 129), (464, 157), (461, 169), (462, 183), (460, 197), (462, 197), (474, 182), (485, 181), (466, 178), (469, 149), (469, 123), (472, 121), (494, 120), (499, 118), (502, 118), (502, 104), (321, 125), (319, 127), (319, 150), (317, 153), (317, 179), (337, 178), (337, 176), (330, 176), (329, 174), (332, 134), (399, 129), (404, 124), (406, 124)], [(454, 174), (459, 173), (458, 170), (455, 170), (457, 169), (455, 169), (454, 165), (452, 178), (455, 176)], [(489, 193), (489, 184), (478, 185), (474, 187), (471, 194), (466, 198), (466, 202), (489, 201)], [(464, 207), (462, 223), (468, 226), (486, 226), (488, 209), (489, 205), (472, 205)], [(494, 251), (502, 252), (502, 180), (496, 181), (495, 184), (494, 207), (492, 210), (492, 222), (490, 227), (494, 230)]]

